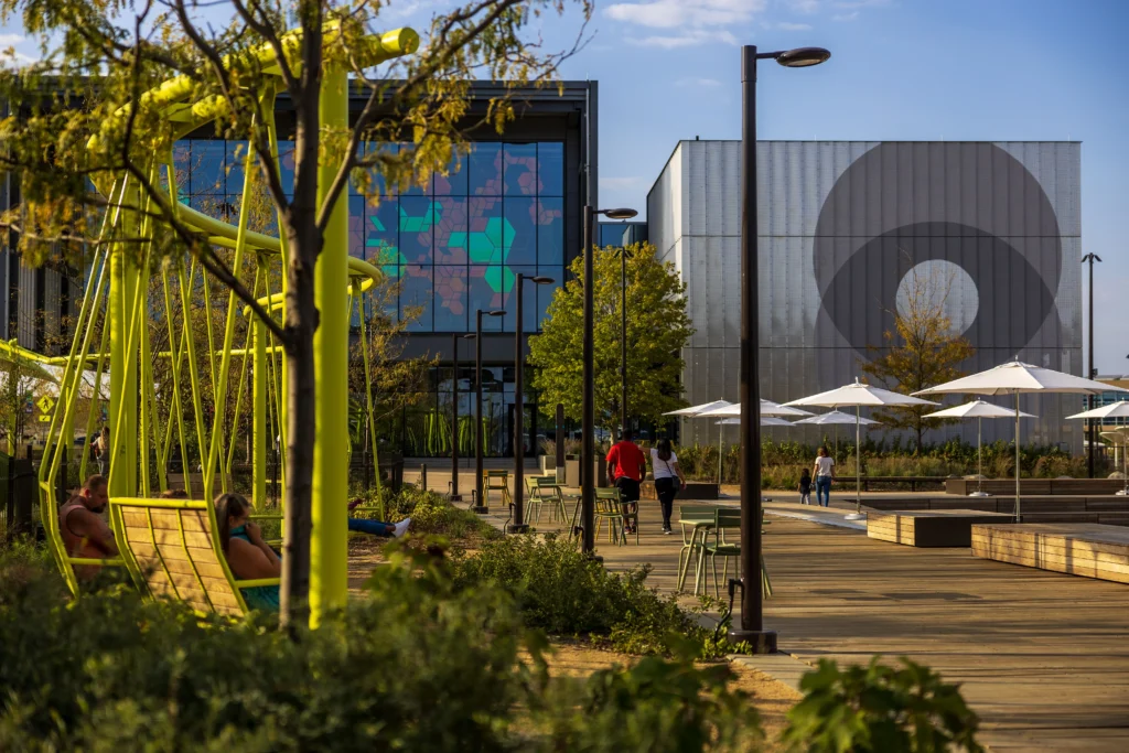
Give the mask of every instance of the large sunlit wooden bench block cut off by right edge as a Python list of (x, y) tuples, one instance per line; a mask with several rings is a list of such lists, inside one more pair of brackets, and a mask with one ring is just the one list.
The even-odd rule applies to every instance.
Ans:
[(972, 526), (972, 554), (1068, 575), (1129, 583), (1129, 529), (1096, 523)]

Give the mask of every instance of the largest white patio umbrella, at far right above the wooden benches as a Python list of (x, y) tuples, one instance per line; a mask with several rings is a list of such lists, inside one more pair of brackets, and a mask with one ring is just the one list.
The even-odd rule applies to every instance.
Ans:
[(1067, 393), (1094, 395), (1103, 392), (1129, 392), (1111, 384), (1094, 382), (1073, 374), (1064, 374), (1019, 360), (1000, 364), (996, 368), (962, 377), (936, 387), (922, 389), (918, 395), (969, 394), (1015, 395), (1015, 522), (1019, 516), (1019, 395), (1023, 393)]

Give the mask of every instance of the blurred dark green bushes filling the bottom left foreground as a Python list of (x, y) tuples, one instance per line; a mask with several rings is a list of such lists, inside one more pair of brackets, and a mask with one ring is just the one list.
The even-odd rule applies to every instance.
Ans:
[(682, 653), (550, 682), (544, 639), (505, 590), (458, 586), (441, 557), (401, 542), (390, 561), (373, 598), (290, 637), (123, 587), (70, 602), (41, 551), (0, 552), (0, 750), (724, 751), (755, 739), (724, 667), (694, 668)]

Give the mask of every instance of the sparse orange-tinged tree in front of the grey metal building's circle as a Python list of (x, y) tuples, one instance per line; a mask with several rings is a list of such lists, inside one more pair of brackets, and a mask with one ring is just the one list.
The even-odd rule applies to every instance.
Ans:
[[(964, 376), (960, 364), (971, 358), (975, 349), (954, 331), (945, 313), (952, 287), (952, 275), (937, 268), (918, 265), (910, 270), (898, 307), (892, 312), (894, 330), (883, 333), (884, 347), (867, 348), (874, 359), (860, 362), (860, 368), (887, 388), (907, 395)], [(876, 410), (874, 418), (881, 424), (874, 428), (913, 432), (916, 455), (921, 452), (926, 431), (954, 422), (925, 418), (937, 410), (934, 405)]]

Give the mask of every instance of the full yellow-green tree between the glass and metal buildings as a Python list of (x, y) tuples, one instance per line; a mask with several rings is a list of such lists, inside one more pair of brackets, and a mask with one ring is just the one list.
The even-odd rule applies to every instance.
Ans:
[[(620, 248), (597, 248), (596, 423), (611, 429), (620, 415), (621, 262)], [(671, 263), (655, 259), (655, 246), (627, 249), (628, 415), (662, 421), (663, 413), (685, 405), (681, 397), (682, 349), (693, 334), (686, 314), (686, 287)], [(571, 279), (557, 290), (542, 333), (530, 339), (530, 365), (537, 368), (533, 387), (551, 414), (563, 403), (564, 415), (581, 418), (584, 376), (584, 257), (572, 262)]]

